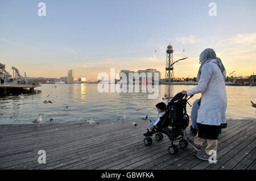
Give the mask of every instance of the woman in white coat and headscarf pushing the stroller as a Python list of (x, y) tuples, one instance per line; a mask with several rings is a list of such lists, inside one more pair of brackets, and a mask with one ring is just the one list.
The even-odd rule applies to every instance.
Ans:
[[(213, 49), (207, 48), (200, 54), (198, 85), (193, 89), (182, 91), (183, 94), (201, 93), (201, 106), (197, 113), (198, 133), (194, 140), (187, 138), (197, 150), (197, 157), (208, 160), (210, 155), (217, 155), (218, 131), (226, 123), (226, 70)], [(205, 139), (207, 148), (201, 150)]]

